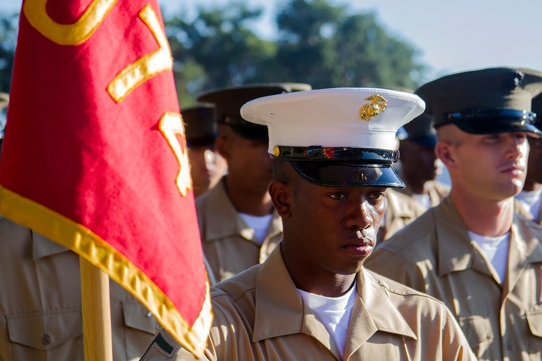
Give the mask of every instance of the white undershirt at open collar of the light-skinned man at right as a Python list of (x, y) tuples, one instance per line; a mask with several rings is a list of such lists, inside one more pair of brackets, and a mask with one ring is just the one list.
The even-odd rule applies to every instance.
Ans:
[(508, 246), (510, 232), (502, 236), (487, 237), (468, 231), (470, 240), (478, 245), (482, 254), (491, 262), (497, 274), (504, 282), (506, 274), (506, 262), (508, 260)]

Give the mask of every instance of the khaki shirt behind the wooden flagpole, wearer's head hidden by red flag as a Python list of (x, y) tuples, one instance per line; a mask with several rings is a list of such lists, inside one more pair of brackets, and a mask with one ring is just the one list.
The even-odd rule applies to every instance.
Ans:
[[(111, 281), (113, 359), (137, 360), (158, 323)], [(79, 256), (0, 217), (0, 360), (83, 360)]]

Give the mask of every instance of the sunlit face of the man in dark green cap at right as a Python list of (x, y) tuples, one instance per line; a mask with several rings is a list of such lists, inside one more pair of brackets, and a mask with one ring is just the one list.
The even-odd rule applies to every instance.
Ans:
[(517, 195), (525, 182), (527, 133), (461, 133), (461, 144), (451, 147), (453, 182), (459, 182), (470, 194), (493, 201)]

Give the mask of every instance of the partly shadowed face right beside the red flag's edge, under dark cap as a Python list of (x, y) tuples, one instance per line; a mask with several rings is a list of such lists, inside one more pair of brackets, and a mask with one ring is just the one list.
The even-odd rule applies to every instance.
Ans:
[(200, 196), (214, 186), (224, 175), (227, 165), (213, 146), (192, 147), (188, 150), (190, 175), (194, 195)]

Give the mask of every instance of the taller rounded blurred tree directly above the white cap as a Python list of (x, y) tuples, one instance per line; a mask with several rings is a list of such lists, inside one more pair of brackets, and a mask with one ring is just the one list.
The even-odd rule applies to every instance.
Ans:
[(424, 66), (409, 44), (390, 36), (373, 14), (346, 14), (326, 0), (292, 0), (277, 22), (277, 61), (291, 79), (314, 88), (416, 88)]

